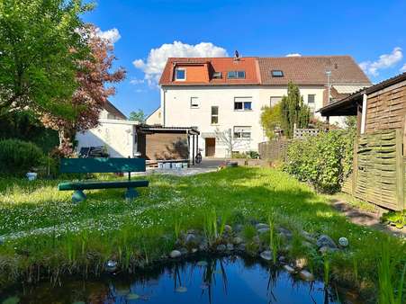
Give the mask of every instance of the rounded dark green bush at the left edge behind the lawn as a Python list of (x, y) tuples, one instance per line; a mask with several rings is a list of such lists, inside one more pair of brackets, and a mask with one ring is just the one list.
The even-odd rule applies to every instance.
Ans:
[(44, 162), (41, 148), (19, 139), (0, 140), (0, 173), (22, 175)]

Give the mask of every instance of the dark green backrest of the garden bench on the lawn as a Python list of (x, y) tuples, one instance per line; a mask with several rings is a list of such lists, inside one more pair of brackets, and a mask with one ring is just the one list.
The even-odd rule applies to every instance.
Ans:
[(62, 158), (61, 173), (144, 172), (144, 158)]

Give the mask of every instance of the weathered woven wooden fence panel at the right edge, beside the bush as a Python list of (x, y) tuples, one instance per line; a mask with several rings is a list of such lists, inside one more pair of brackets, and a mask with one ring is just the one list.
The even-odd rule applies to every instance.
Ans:
[(361, 135), (356, 139), (353, 173), (342, 191), (391, 210), (405, 209), (402, 144), (402, 130)]

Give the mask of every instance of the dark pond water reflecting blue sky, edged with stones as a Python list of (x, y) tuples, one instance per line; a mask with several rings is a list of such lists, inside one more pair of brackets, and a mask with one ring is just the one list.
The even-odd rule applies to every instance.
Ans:
[[(238, 256), (157, 266), (136, 275), (93, 280), (69, 277), (0, 293), (0, 303), (355, 303), (322, 282), (303, 282), (282, 269)], [(359, 302), (357, 302), (359, 303)]]

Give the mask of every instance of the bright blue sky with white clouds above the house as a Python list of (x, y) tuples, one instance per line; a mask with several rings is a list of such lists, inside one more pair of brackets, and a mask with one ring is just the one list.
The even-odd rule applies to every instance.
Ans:
[(126, 114), (158, 107), (156, 79), (167, 56), (223, 56), (235, 49), (242, 56), (348, 54), (374, 83), (406, 71), (402, 0), (96, 3), (84, 18), (114, 40), (117, 65), (127, 69), (127, 79), (111, 98)]

